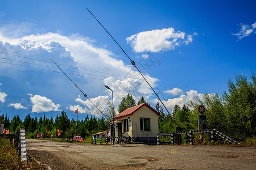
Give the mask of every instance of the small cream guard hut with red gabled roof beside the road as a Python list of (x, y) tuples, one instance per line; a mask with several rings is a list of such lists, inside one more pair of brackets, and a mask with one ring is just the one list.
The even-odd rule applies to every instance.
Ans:
[(131, 107), (114, 117), (115, 137), (138, 142), (156, 142), (160, 114), (146, 103)]

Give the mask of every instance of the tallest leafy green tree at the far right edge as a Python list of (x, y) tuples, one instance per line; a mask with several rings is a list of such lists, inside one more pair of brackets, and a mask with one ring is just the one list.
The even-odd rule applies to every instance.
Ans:
[(245, 75), (236, 75), (236, 83), (228, 80), (229, 94), (224, 92), (227, 124), (229, 133), (237, 139), (256, 135), (256, 78), (251, 73), (251, 80)]

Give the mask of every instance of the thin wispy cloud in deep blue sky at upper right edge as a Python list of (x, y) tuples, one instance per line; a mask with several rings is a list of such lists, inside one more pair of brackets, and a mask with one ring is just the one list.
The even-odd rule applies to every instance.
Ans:
[(248, 25), (248, 24), (242, 24), (240, 23), (240, 29), (238, 29), (238, 32), (236, 33), (232, 33), (233, 36), (237, 36), (238, 40), (243, 39), (243, 37), (247, 37), (249, 35), (251, 35), (251, 33), (256, 33), (255, 29), (256, 29), (256, 23)]

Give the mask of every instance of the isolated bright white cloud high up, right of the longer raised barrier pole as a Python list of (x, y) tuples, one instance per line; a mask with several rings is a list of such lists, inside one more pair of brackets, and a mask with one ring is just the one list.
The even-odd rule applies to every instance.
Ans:
[(163, 50), (174, 50), (182, 43), (187, 45), (192, 42), (192, 35), (185, 40), (185, 33), (174, 31), (174, 28), (154, 29), (144, 31), (126, 38), (131, 44), (134, 52), (160, 52)]

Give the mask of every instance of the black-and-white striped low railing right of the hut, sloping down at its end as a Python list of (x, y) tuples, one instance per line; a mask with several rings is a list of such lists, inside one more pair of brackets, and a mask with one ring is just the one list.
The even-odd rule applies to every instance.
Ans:
[(159, 133), (157, 135), (157, 145), (160, 145), (160, 136), (167, 136), (167, 135), (171, 135), (171, 143), (172, 145), (174, 145), (174, 137), (175, 135), (180, 135), (180, 134), (186, 134), (189, 136), (189, 144), (193, 145), (193, 133), (210, 133), (210, 141), (213, 143), (214, 142), (214, 134), (217, 134), (218, 136), (226, 139), (227, 141), (234, 143), (234, 144), (238, 144), (240, 145), (240, 143), (234, 141), (233, 139), (227, 137), (226, 135), (220, 133), (219, 131), (215, 130), (215, 129), (206, 129), (206, 130), (190, 130), (190, 131), (175, 131), (175, 132), (171, 132), (171, 133)]

